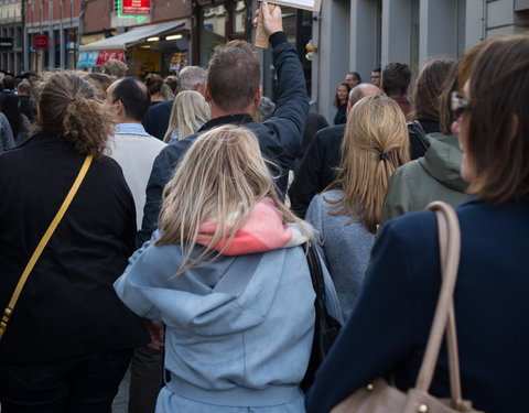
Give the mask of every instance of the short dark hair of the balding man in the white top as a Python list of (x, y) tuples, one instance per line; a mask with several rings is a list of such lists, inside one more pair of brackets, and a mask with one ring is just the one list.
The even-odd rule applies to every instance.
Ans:
[(114, 89), (116, 100), (121, 100), (127, 117), (141, 121), (151, 106), (151, 94), (140, 79), (126, 77)]

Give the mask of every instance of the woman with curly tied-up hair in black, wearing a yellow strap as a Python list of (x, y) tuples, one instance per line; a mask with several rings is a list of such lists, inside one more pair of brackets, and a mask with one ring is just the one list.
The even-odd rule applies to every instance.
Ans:
[(6, 413), (109, 412), (132, 349), (149, 340), (112, 290), (133, 252), (134, 203), (104, 155), (112, 123), (88, 81), (45, 74), (37, 108), (30, 139), (0, 155), (0, 312), (93, 160), (1, 337), (0, 403)]

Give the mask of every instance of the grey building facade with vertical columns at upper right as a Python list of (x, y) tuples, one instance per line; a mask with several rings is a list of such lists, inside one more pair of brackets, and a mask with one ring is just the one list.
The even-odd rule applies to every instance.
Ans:
[(332, 120), (348, 72), (407, 63), (414, 76), (432, 57), (458, 57), (496, 34), (527, 32), (529, 0), (326, 0), (314, 14), (312, 98)]

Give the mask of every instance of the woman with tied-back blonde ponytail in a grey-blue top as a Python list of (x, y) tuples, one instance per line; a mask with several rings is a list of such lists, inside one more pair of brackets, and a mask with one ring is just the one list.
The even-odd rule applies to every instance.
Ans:
[(313, 198), (305, 216), (323, 236), (344, 318), (360, 289), (389, 180), (409, 159), (398, 105), (382, 96), (358, 101), (347, 119), (338, 178)]

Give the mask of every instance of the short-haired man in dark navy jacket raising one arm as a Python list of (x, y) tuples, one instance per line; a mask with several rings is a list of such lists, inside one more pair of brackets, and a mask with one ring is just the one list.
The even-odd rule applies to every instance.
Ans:
[(287, 192), (288, 173), (300, 151), (309, 97), (298, 53), (282, 31), (280, 8), (274, 8), (271, 14), (268, 7), (263, 10), (264, 31), (270, 35), (279, 81), (273, 117), (262, 123), (252, 119), (253, 108), (261, 98), (261, 87), (259, 59), (250, 45), (233, 41), (217, 48), (209, 62), (205, 91), (205, 98), (212, 105), (212, 120), (197, 133), (165, 146), (154, 161), (137, 247), (149, 240), (158, 227), (162, 191), (180, 159), (199, 133), (217, 126), (231, 123), (250, 129), (259, 140), (262, 155), (279, 167), (273, 171), (279, 192), (281, 195)]

